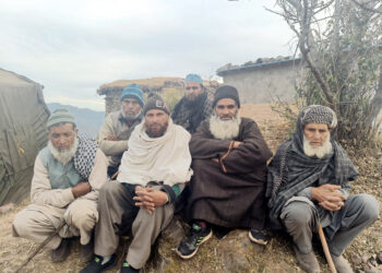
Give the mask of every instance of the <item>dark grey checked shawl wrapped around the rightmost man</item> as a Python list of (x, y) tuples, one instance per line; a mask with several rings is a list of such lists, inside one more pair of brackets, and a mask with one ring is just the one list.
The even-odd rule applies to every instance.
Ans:
[(358, 177), (345, 150), (333, 139), (331, 154), (323, 158), (307, 156), (302, 147), (302, 128), (299, 115), (291, 140), (278, 147), (268, 165), (266, 197), (270, 198), (270, 216), (275, 219), (284, 204), (305, 188), (324, 183), (344, 186)]

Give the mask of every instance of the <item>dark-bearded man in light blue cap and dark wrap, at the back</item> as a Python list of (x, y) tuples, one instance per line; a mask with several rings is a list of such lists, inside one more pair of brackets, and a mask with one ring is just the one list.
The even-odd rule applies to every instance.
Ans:
[(194, 133), (199, 124), (211, 117), (213, 112), (212, 102), (207, 97), (200, 75), (188, 74), (184, 82), (184, 96), (175, 106), (171, 118), (174, 123), (182, 126), (190, 133)]

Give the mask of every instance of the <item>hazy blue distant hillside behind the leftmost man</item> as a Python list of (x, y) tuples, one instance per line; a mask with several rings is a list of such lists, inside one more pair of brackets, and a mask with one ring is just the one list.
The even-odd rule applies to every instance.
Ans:
[(70, 111), (75, 119), (75, 123), (79, 128), (81, 135), (95, 138), (97, 136), (98, 130), (105, 120), (104, 111), (94, 111), (87, 108), (79, 108), (71, 105), (61, 105), (58, 103), (47, 104), (50, 111), (59, 108), (64, 108)]

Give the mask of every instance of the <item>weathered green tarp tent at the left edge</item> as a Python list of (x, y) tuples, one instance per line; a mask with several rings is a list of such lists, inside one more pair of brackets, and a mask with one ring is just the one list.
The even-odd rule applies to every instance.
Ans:
[(0, 69), (0, 205), (29, 194), (34, 161), (47, 142), (43, 87)]

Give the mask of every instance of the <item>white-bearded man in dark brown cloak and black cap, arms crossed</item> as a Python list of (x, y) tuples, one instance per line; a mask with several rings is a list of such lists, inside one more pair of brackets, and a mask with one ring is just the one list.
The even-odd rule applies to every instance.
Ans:
[(235, 87), (217, 88), (214, 114), (190, 141), (194, 176), (186, 219), (190, 235), (177, 253), (189, 259), (211, 238), (212, 227), (248, 228), (252, 241), (265, 245), (265, 169), (272, 156), (256, 123), (238, 117), (240, 102)]

